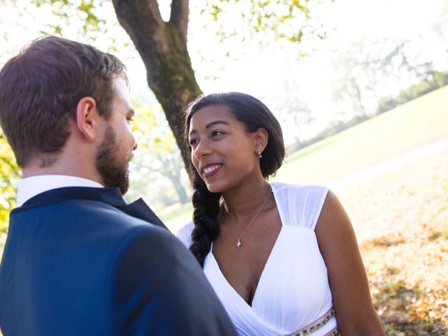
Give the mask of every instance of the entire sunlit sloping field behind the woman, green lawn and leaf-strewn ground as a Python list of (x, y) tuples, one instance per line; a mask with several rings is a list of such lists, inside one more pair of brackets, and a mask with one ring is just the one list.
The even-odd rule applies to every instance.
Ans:
[(448, 335), (448, 87), (293, 153), (273, 181), (337, 186), (387, 335)]

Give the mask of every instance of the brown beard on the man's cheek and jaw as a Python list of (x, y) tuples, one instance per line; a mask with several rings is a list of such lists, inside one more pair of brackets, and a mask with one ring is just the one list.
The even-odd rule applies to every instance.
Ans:
[[(129, 189), (129, 160), (118, 162), (120, 152), (117, 137), (112, 127), (108, 127), (104, 141), (99, 146), (95, 165), (105, 187), (120, 188), (121, 195)], [(128, 159), (128, 158), (126, 158)]]

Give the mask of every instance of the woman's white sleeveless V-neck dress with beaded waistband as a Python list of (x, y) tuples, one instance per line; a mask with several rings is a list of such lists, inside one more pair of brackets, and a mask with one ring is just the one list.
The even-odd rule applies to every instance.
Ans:
[[(204, 273), (239, 335), (339, 335), (327, 268), (314, 228), (328, 188), (271, 183), (281, 231), (262, 271), (252, 306), (230, 286), (209, 253)], [(177, 232), (187, 247), (193, 223)]]

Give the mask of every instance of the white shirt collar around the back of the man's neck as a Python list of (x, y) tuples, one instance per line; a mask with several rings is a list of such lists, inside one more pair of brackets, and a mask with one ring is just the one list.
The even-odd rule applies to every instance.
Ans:
[(38, 175), (22, 179), (17, 189), (17, 207), (45, 191), (65, 187), (104, 188), (98, 182), (69, 175)]

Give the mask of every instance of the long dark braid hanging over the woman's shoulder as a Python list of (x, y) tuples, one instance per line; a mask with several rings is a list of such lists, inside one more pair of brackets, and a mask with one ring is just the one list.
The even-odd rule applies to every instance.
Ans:
[(194, 168), (193, 189), (195, 228), (191, 234), (190, 251), (195, 255), (201, 267), (204, 267), (204, 259), (210, 252), (211, 243), (219, 234), (218, 214), (221, 193), (211, 193)]

